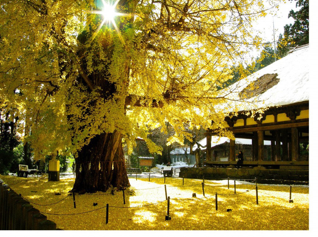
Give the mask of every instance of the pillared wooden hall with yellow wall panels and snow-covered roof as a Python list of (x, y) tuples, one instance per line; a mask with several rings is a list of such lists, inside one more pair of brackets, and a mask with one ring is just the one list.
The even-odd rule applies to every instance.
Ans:
[[(285, 165), (284, 167), (308, 169), (308, 156), (299, 153), (300, 142), (309, 142), (309, 45), (295, 48), (282, 59), (262, 68), (236, 83), (238, 98), (260, 101), (250, 105), (250, 110), (268, 107), (260, 117), (247, 116), (239, 111), (225, 118), (225, 127), (235, 138), (252, 140), (251, 165)], [(242, 82), (243, 81), (243, 82)], [(213, 122), (212, 122), (213, 127)], [(211, 155), (211, 136), (206, 133), (206, 165), (215, 165)], [(264, 140), (271, 142), (271, 161), (264, 161)], [(229, 162), (235, 162), (235, 140), (230, 140)], [(295, 167), (298, 166), (298, 167)]]

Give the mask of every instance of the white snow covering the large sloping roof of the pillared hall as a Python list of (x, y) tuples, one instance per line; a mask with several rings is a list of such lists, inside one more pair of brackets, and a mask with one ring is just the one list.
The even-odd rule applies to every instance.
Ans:
[[(251, 96), (252, 98), (249, 99), (249, 101), (255, 98), (261, 101), (253, 105), (248, 105), (247, 107), (244, 107), (244, 105), (246, 105), (245, 103), (234, 102), (232, 106), (237, 105), (238, 111), (309, 101), (308, 58), (309, 45), (301, 46), (300, 48), (294, 49), (284, 58), (254, 72), (245, 79), (241, 79), (223, 92), (228, 89), (234, 89), (231, 98), (238, 100), (240, 93), (245, 90), (247, 96), (252, 95), (252, 93), (256, 94), (254, 97)], [(267, 78), (266, 74), (268, 74)], [(254, 88), (249, 87), (251, 82), (259, 85), (259, 90), (255, 88), (255, 85)], [(248, 90), (248, 88), (250, 88), (250, 90)], [(259, 95), (257, 95), (257, 91), (260, 92)]]

